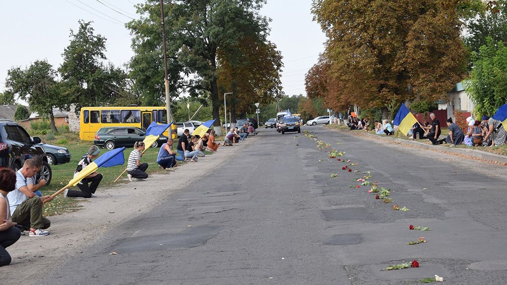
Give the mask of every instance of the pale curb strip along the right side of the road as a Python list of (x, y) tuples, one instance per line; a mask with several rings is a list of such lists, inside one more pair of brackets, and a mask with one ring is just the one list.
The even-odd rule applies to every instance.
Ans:
[[(334, 129), (334, 130), (346, 131), (348, 133), (352, 133), (351, 131), (348, 131), (348, 130), (339, 130), (339, 129)], [(480, 151), (480, 150), (474, 150), (471, 148), (470, 149), (456, 149), (456, 148), (449, 148), (449, 147), (443, 148), (441, 146), (433, 146), (433, 145), (423, 144), (422, 142), (418, 142), (418, 141), (414, 141), (414, 140), (405, 140), (405, 139), (401, 139), (401, 138), (387, 138), (387, 137), (374, 135), (371, 133), (364, 133), (364, 134), (360, 134), (360, 135), (364, 136), (364, 137), (371, 137), (371, 138), (376, 138), (376, 139), (393, 140), (393, 141), (396, 141), (397, 143), (399, 143), (401, 145), (405, 145), (405, 146), (418, 147), (418, 148), (422, 148), (422, 149), (426, 149), (426, 150), (439, 151), (439, 152), (454, 154), (454, 155), (468, 156), (468, 157), (472, 157), (472, 158), (476, 158), (476, 159), (481, 159), (481, 160), (486, 160), (486, 161), (491, 161), (491, 162), (507, 165), (507, 156), (489, 153), (489, 152)]]

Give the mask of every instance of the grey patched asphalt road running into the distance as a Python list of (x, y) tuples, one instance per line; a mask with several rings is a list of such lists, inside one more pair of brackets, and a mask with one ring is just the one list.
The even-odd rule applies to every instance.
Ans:
[[(446, 284), (507, 283), (504, 166), (303, 130), (344, 151), (358, 172), (343, 171), (303, 133), (263, 129), (215, 173), (35, 283), (410, 284), (435, 274)], [(393, 203), (349, 187), (366, 171)], [(420, 236), (427, 242), (407, 245)], [(414, 259), (419, 268), (380, 271)]]

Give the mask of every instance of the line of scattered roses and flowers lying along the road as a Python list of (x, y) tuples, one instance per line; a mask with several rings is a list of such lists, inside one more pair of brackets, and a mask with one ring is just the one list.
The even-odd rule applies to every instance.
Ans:
[[(345, 171), (345, 173), (358, 173), (360, 172), (359, 169), (357, 169), (359, 166), (358, 163), (353, 163), (350, 159), (344, 159), (343, 156), (345, 155), (345, 152), (334, 150), (331, 148), (331, 144), (328, 142), (324, 142), (320, 139), (318, 139), (318, 136), (315, 132), (308, 132), (305, 131), (304, 135), (308, 138), (312, 139), (317, 143), (317, 148), (319, 150), (324, 150), (328, 154), (329, 159), (336, 159), (338, 162), (342, 162), (345, 164), (345, 166), (342, 167), (342, 170)], [(339, 144), (339, 143), (338, 143)], [(319, 159), (319, 161), (322, 161)], [(374, 193), (376, 200), (382, 200), (384, 203), (392, 203), (392, 198), (389, 197), (391, 190), (384, 187), (379, 187), (377, 185), (377, 182), (372, 182), (370, 179), (372, 179), (372, 175), (370, 171), (361, 172), (361, 174), (364, 174), (363, 177), (356, 177), (353, 182), (355, 182), (355, 185), (349, 185), (349, 188), (361, 188), (361, 186), (371, 186), (371, 188), (368, 190), (368, 193)], [(338, 177), (338, 173), (331, 173), (331, 177), (335, 178)], [(392, 205), (393, 210), (398, 211), (410, 211), (409, 208), (405, 206), (399, 206), (399, 205)], [(430, 229), (428, 227), (422, 227), (422, 226), (409, 226), (409, 230), (419, 230), (419, 231), (429, 231)], [(419, 237), (415, 241), (409, 241), (408, 245), (415, 245), (415, 244), (421, 244), (426, 243), (426, 238)], [(405, 269), (405, 268), (416, 268), (419, 267), (419, 262), (417, 260), (413, 260), (409, 263), (402, 263), (402, 264), (396, 264), (396, 265), (389, 265), (383, 270), (396, 270), (396, 269)], [(443, 277), (440, 277), (438, 275), (435, 275), (435, 278), (425, 278), (426, 281), (443, 281)]]

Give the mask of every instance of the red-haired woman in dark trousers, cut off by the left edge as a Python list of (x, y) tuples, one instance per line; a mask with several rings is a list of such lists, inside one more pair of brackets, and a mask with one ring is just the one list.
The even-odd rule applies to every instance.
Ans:
[(0, 266), (11, 264), (12, 258), (6, 248), (18, 241), (21, 231), (12, 222), (7, 195), (16, 188), (16, 173), (8, 168), (0, 170)]

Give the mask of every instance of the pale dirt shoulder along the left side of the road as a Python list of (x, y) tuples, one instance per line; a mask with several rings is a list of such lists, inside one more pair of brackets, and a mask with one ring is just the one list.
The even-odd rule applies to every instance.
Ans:
[[(154, 174), (146, 181), (122, 183), (115, 188), (97, 190), (96, 198), (83, 199), (79, 211), (50, 217), (51, 234), (46, 237), (21, 236), (8, 248), (12, 256), (9, 266), (0, 267), (2, 284), (37, 283), (38, 276), (52, 270), (77, 270), (61, 268), (66, 257), (79, 255), (83, 249), (108, 231), (122, 232), (122, 223), (144, 213), (192, 181), (220, 166), (231, 157), (240, 154), (259, 136), (253, 136), (235, 147), (221, 147), (213, 155), (199, 158), (197, 163), (174, 168), (164, 174)], [(157, 167), (150, 163), (150, 167)], [(99, 169), (100, 171), (100, 169)]]

